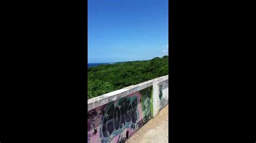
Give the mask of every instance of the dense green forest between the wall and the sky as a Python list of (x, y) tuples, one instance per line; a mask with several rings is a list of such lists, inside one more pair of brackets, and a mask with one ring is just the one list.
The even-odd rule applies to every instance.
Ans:
[(147, 61), (119, 62), (87, 68), (87, 97), (93, 98), (114, 90), (168, 75), (169, 56)]

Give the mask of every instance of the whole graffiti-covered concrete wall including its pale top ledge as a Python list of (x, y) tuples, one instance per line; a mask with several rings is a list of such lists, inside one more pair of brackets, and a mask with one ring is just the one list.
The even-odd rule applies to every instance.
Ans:
[(89, 99), (87, 142), (124, 142), (167, 103), (168, 75)]

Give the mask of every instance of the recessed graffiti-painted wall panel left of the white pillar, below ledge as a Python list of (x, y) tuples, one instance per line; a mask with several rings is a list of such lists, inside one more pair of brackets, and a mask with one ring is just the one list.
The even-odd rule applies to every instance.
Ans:
[(87, 142), (125, 142), (152, 118), (152, 86), (87, 112)]

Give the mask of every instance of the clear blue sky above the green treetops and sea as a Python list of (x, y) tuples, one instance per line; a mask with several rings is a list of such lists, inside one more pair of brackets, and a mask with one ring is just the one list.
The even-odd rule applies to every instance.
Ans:
[(88, 0), (88, 63), (168, 55), (168, 1)]

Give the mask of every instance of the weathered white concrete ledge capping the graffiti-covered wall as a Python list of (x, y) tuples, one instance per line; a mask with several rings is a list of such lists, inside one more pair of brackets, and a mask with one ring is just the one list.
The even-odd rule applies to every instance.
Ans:
[(87, 100), (87, 106), (89, 110), (95, 109), (98, 106), (102, 106), (104, 104), (110, 103), (112, 101), (116, 101), (119, 98), (123, 98), (127, 95), (133, 94), (134, 92), (140, 91), (142, 89), (145, 89), (147, 87), (150, 87), (151, 85), (153, 85), (153, 82), (161, 82), (161, 81), (165, 81), (169, 79), (169, 75), (166, 76), (161, 76), (161, 77), (157, 77), (154, 78), (153, 80), (150, 81), (146, 81), (143, 83), (139, 83), (136, 85), (131, 85), (129, 87), (125, 87), (123, 89), (119, 89), (113, 92), (109, 92), (107, 94), (95, 97), (95, 98), (91, 98)]

